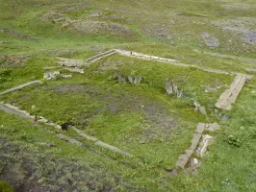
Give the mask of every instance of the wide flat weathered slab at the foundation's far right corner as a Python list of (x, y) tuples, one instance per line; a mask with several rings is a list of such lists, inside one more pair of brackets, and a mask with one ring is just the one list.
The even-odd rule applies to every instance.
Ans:
[(239, 96), (239, 93), (242, 91), (243, 85), (246, 83), (246, 79), (246, 75), (237, 75), (230, 87), (220, 95), (216, 104), (216, 108), (230, 110), (232, 104), (235, 103), (237, 97)]

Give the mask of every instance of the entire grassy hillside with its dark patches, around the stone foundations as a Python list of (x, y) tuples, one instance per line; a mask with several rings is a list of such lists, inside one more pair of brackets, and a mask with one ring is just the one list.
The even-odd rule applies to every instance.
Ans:
[[(57, 65), (57, 57), (87, 60), (115, 48), (227, 72), (256, 68), (253, 0), (0, 0), (0, 21), (0, 92), (42, 80), (42, 67)], [(2, 95), (0, 102), (30, 112), (36, 106), (38, 115), (71, 122), (136, 157), (0, 111), (0, 191), (12, 190), (4, 181), (14, 191), (256, 190), (255, 79), (231, 111), (222, 111), (215, 103), (233, 76), (119, 55), (83, 69), (71, 79)], [(140, 75), (141, 84), (117, 83), (115, 73)], [(166, 95), (167, 79), (184, 98)], [(193, 100), (207, 116), (193, 110)], [(175, 161), (199, 122), (218, 122), (220, 131), (206, 157), (193, 155), (201, 163), (196, 172), (176, 173)]]

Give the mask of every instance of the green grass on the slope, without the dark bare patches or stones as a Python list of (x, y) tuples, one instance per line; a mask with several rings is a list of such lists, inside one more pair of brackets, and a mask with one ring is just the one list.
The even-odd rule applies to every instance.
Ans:
[[(23, 66), (4, 67), (0, 63), (0, 91), (40, 80), (43, 66), (57, 65), (55, 57), (58, 53), (62, 57), (86, 60), (99, 50), (113, 48), (179, 60), (200, 67), (246, 73), (246, 67), (255, 68), (256, 64), (201, 53), (205, 51), (255, 59), (253, 44), (243, 44), (242, 36), (230, 34), (212, 23), (240, 17), (255, 19), (253, 7), (248, 10), (226, 10), (222, 7), (233, 3), (254, 5), (253, 0), (79, 0), (75, 3), (68, 0), (0, 0), (0, 27), (38, 39), (27, 40), (0, 31), (0, 41), (7, 41), (1, 42), (0, 55), (32, 55)], [(130, 28), (137, 38), (129, 40), (96, 33), (90, 36), (80, 32), (71, 33), (51, 20), (42, 20), (42, 15), (49, 11), (59, 12), (73, 20), (117, 23)], [(101, 16), (89, 17), (94, 12), (100, 12)], [(243, 26), (245, 28), (246, 25)], [(201, 36), (204, 32), (217, 37), (219, 46), (207, 47)], [(65, 53), (64, 50), (72, 50), (73, 53)], [(142, 83), (117, 84), (115, 72), (126, 77), (141, 75)], [(178, 100), (165, 94), (168, 78), (184, 89), (186, 98)], [(94, 180), (98, 180), (98, 186), (105, 181), (111, 183), (115, 175), (120, 175), (126, 181), (118, 184), (117, 191), (129, 190), (129, 187), (125, 188), (127, 182), (135, 186), (134, 190), (146, 188), (148, 191), (255, 191), (255, 81), (246, 84), (231, 111), (218, 111), (231, 116), (230, 120), (221, 121), (214, 108), (219, 95), (231, 84), (232, 79), (193, 68), (115, 55), (85, 68), (85, 75), (74, 74), (72, 79), (49, 81), (1, 96), (1, 101), (12, 102), (28, 111), (36, 105), (39, 115), (51, 121), (73, 121), (79, 129), (141, 156), (143, 161), (126, 159), (96, 148), (115, 160), (104, 158), (58, 140), (55, 132), (49, 128), (49, 132), (38, 129), (32, 123), (2, 111), (0, 125), (4, 127), (1, 127), (0, 132), (1, 136), (13, 143), (30, 149), (36, 147), (43, 156), (49, 156), (48, 153), (57, 159), (73, 156), (81, 166), (99, 165), (108, 172), (109, 179), (101, 180), (100, 174), (90, 173)], [(64, 84), (66, 90), (62, 89)], [(205, 92), (206, 86), (218, 84), (221, 84), (218, 90)], [(86, 90), (71, 90), (72, 86), (86, 87)], [(207, 118), (193, 112), (192, 98), (207, 108)], [(165, 127), (163, 123), (168, 118), (178, 122), (171, 132), (161, 127)], [(172, 167), (177, 157), (187, 149), (198, 122), (218, 122), (221, 127), (219, 132), (213, 133), (215, 142), (210, 147), (209, 156), (201, 159), (202, 165), (195, 174), (183, 171), (171, 178), (163, 167)], [(145, 132), (148, 135), (144, 135)], [(62, 133), (92, 146), (75, 132)], [(154, 138), (155, 134), (157, 136)], [(51, 141), (58, 147), (45, 149), (37, 144)]]

